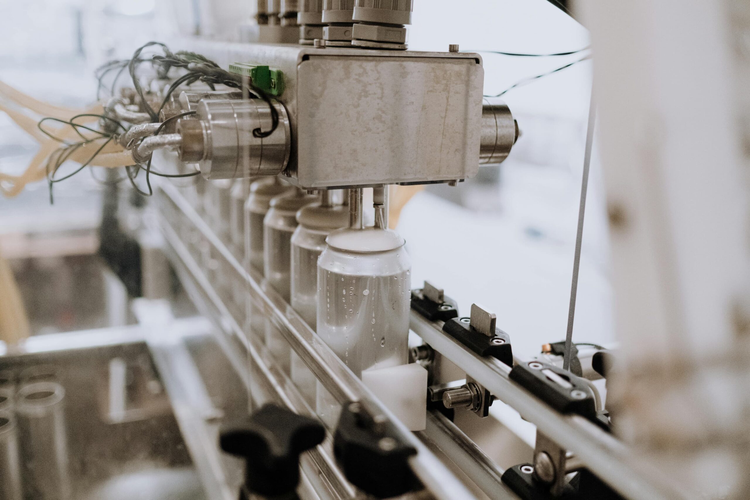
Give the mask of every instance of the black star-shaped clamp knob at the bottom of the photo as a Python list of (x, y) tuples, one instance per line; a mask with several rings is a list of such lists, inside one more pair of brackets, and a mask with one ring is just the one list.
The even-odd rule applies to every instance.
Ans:
[(221, 430), (221, 449), (245, 459), (245, 487), (266, 497), (283, 497), (299, 484), (299, 455), (323, 442), (319, 421), (272, 404), (247, 420)]

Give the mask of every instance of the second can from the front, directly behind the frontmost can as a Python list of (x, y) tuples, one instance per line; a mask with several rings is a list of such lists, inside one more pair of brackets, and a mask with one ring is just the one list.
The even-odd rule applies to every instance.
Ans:
[[(313, 329), (317, 317), (318, 257), (326, 249), (328, 235), (349, 223), (349, 207), (333, 205), (331, 195), (326, 191), (320, 203), (297, 212), (299, 225), (292, 235), (291, 305)], [(308, 403), (314, 405), (316, 378), (296, 352), (290, 355), (292, 382)]]

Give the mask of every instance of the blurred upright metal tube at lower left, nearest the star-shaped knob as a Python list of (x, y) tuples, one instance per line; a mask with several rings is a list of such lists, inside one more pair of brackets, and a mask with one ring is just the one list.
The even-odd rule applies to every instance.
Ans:
[(65, 389), (56, 382), (35, 382), (18, 391), (16, 415), (27, 497), (71, 498), (64, 398)]

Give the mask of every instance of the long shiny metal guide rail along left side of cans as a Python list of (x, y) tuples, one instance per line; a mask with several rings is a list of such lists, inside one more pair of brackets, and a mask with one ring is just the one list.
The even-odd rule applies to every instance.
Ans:
[[(440, 500), (455, 500), (455, 499), (469, 499), (472, 498), (472, 494), (469, 490), (463, 486), (463, 484), (455, 477), (446, 466), (432, 454), (428, 448), (425, 447), (419, 439), (416, 439), (412, 433), (410, 433), (398, 420), (396, 420), (388, 409), (384, 408), (377, 403), (377, 400), (373, 395), (362, 385), (362, 382), (353, 375), (353, 373), (347, 369), (347, 367), (338, 359), (334, 352), (329, 349), (328, 346), (320, 340), (320, 337), (305, 324), (304, 321), (299, 317), (297, 313), (292, 310), (288, 304), (285, 304), (281, 297), (275, 292), (263, 292), (261, 289), (261, 283), (263, 283), (260, 273), (254, 269), (245, 271), (239, 262), (233, 258), (226, 248), (223, 248), (220, 241), (212, 234), (211, 229), (203, 222), (198, 214), (181, 198), (181, 195), (175, 189), (175, 187), (169, 184), (163, 184), (160, 186), (160, 198), (161, 208), (164, 217), (177, 217), (177, 223), (187, 223), (190, 226), (195, 227), (201, 232), (202, 237), (217, 248), (220, 256), (226, 259), (227, 262), (231, 263), (236, 277), (244, 280), (248, 286), (248, 295), (252, 301), (255, 301), (263, 310), (263, 313), (274, 319), (277, 326), (280, 328), (281, 333), (286, 338), (287, 342), (290, 343), (296, 354), (307, 364), (308, 368), (315, 374), (320, 382), (323, 382), (326, 390), (329, 391), (336, 400), (339, 402), (367, 400), (374, 408), (380, 410), (386, 418), (389, 418), (394, 424), (398, 431), (407, 439), (412, 445), (415, 446), (418, 453), (416, 456), (410, 459), (410, 466), (412, 466), (417, 478), (425, 484), (425, 487)], [(170, 216), (171, 214), (171, 216)], [(169, 241), (170, 247), (175, 252), (175, 264), (187, 266), (188, 270), (186, 273), (192, 276), (202, 276), (202, 272), (196, 266), (189, 251), (178, 238), (178, 232), (167, 222), (166, 218), (160, 218), (160, 226), (163, 229), (164, 235)], [(181, 217), (181, 219), (179, 218)], [(229, 316), (226, 307), (220, 304), (215, 292), (211, 293), (211, 285), (205, 277), (199, 279), (199, 284), (202, 289), (205, 290), (211, 297), (211, 301), (214, 307), (220, 311), (219, 317), (223, 325), (229, 325), (230, 336), (234, 339), (233, 343), (237, 346), (242, 346), (248, 355), (253, 359), (257, 359), (257, 350), (254, 349), (252, 344), (248, 341), (245, 334), (237, 322)], [(241, 358), (246, 359), (246, 358)], [(251, 366), (253, 366), (251, 364)], [(268, 368), (264, 368), (265, 365), (259, 366), (258, 370), (261, 373), (268, 373)], [(281, 374), (280, 374), (281, 375)], [(255, 379), (261, 379), (256, 377)], [(264, 377), (263, 379), (269, 380)], [(283, 393), (283, 391), (282, 391)], [(312, 481), (312, 479), (311, 479)]]

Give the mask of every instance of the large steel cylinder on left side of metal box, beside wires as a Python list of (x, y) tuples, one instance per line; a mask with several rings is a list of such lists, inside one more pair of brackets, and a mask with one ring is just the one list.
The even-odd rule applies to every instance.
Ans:
[(263, 99), (201, 100), (196, 118), (180, 120), (180, 159), (198, 163), (208, 179), (278, 175), (291, 151), (289, 116), (284, 105), (272, 100), (278, 126), (267, 137), (257, 130), (272, 128), (272, 112)]

